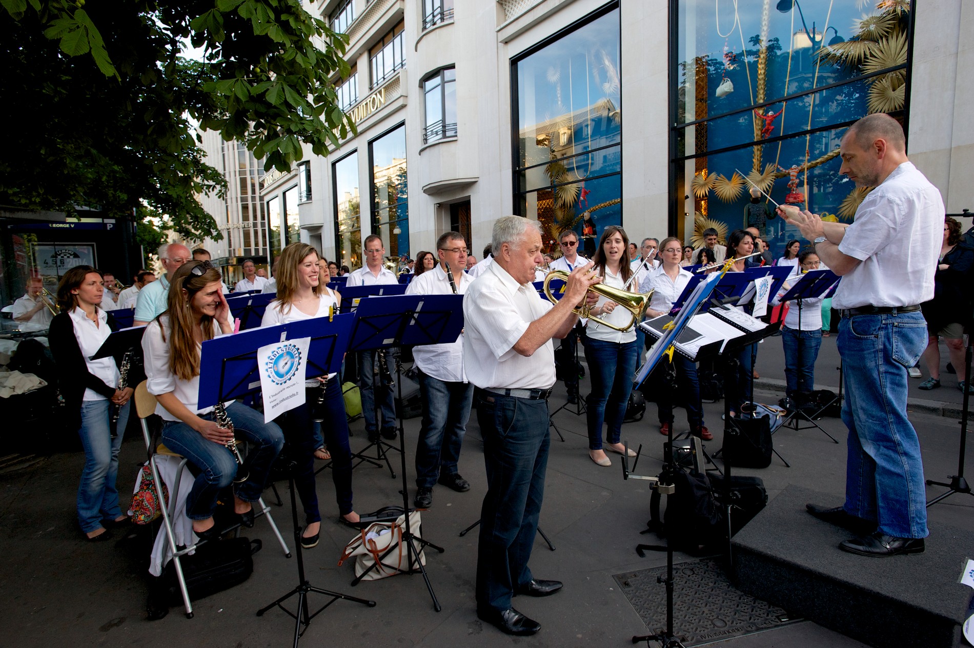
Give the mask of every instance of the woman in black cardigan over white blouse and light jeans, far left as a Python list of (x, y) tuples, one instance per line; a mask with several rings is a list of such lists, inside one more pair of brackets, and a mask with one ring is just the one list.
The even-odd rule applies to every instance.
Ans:
[[(90, 265), (75, 266), (57, 286), (60, 309), (48, 333), (57, 363), (57, 385), (64, 399), (68, 427), (76, 429), (85, 448), (85, 468), (78, 485), (78, 523), (93, 542), (108, 540), (106, 527), (128, 522), (119, 507), (115, 477), (119, 448), (129, 422), (132, 388), (119, 389), (122, 358), (90, 360), (119, 325), (98, 304), (104, 291), (101, 273)], [(128, 380), (138, 384), (132, 364)], [(117, 412), (118, 421), (112, 423)]]

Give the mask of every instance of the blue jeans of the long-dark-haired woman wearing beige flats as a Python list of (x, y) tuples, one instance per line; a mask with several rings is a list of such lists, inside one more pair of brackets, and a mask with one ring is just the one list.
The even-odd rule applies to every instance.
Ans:
[(606, 342), (585, 338), (585, 361), (592, 381), (592, 391), (585, 397), (589, 450), (602, 449), (603, 423), (609, 426), (609, 442), (618, 443), (638, 356), (636, 340)]

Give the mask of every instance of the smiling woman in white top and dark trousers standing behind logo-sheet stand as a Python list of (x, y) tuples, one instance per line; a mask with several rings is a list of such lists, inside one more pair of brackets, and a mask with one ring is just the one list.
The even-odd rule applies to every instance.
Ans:
[[(278, 261), (278, 298), (268, 305), (261, 325), (326, 318), (332, 309), (337, 312), (340, 297), (324, 286), (320, 278), (318, 250), (304, 243), (283, 248)], [(331, 478), (335, 483), (338, 513), (347, 524), (358, 522), (358, 514), (352, 507), (352, 450), (341, 381), (336, 374), (329, 374), (323, 395), (321, 384), (320, 378), (306, 381), (305, 404), (278, 419), (291, 448), (290, 456), (297, 462), (294, 484), (305, 511), (305, 528), (301, 533), (301, 546), (305, 549), (318, 545), (321, 527), (315, 485), (314, 453), (320, 447), (313, 421), (316, 408), (324, 419), (321, 432), (331, 453)], [(320, 404), (318, 399), (322, 399)]]

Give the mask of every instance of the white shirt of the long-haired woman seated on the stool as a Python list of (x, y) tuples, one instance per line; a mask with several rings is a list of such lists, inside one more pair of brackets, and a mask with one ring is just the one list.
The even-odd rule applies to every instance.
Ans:
[[(163, 341), (163, 331), (166, 332), (166, 341)], [(213, 336), (219, 337), (223, 334), (220, 324), (213, 320)], [(145, 357), (145, 378), (146, 389), (153, 396), (172, 393), (179, 402), (186, 405), (194, 414), (206, 414), (213, 411), (212, 407), (200, 409), (197, 403), (200, 401), (200, 376), (193, 376), (191, 380), (177, 378), (169, 370), (169, 351), (172, 341), (172, 327), (169, 325), (169, 316), (163, 315), (153, 320), (145, 327), (142, 335), (142, 353)], [(201, 345), (196, 345), (196, 353), (200, 353)], [(223, 404), (229, 405), (233, 400), (227, 400)], [(156, 405), (156, 413), (167, 421), (178, 421), (179, 418), (170, 414), (162, 403)]]

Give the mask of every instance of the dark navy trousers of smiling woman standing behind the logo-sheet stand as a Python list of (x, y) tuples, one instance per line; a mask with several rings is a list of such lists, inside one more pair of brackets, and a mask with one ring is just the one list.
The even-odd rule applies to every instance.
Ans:
[[(352, 513), (352, 449), (349, 447), (349, 422), (345, 416), (345, 399), (338, 377), (328, 381), (328, 388), (321, 401), (324, 420), (318, 425), (312, 419), (318, 407), (318, 387), (305, 390), (305, 404), (285, 412), (274, 420), (281, 426), (287, 439), (288, 456), (297, 464), (294, 473), (294, 488), (301, 498), (305, 512), (305, 525), (321, 521), (318, 511), (318, 490), (315, 482), (315, 450), (322, 442), (331, 454), (331, 480), (335, 484), (335, 501), (338, 513)], [(316, 428), (323, 433), (322, 438), (315, 435)]]

